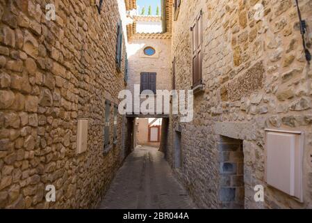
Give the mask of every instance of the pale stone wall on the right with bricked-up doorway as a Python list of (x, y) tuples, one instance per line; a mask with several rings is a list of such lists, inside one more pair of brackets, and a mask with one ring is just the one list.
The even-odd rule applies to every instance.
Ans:
[[(245, 208), (312, 207), (312, 70), (306, 62), (292, 0), (181, 1), (173, 22), (172, 59), (177, 89), (192, 86), (190, 26), (203, 10), (204, 91), (195, 95), (194, 119), (170, 118), (167, 158), (174, 166), (173, 131), (181, 125), (182, 168), (177, 176), (197, 205), (220, 208), (220, 136), (243, 140)], [(256, 21), (254, 6), (263, 3)], [(311, 49), (312, 4), (299, 1)], [(304, 132), (304, 202), (266, 185), (265, 128)], [(265, 187), (265, 202), (254, 187)]]

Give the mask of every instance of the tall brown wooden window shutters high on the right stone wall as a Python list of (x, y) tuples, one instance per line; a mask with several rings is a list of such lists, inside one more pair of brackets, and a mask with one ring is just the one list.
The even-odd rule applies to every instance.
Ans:
[(202, 84), (202, 10), (191, 27), (192, 31), (192, 88)]

